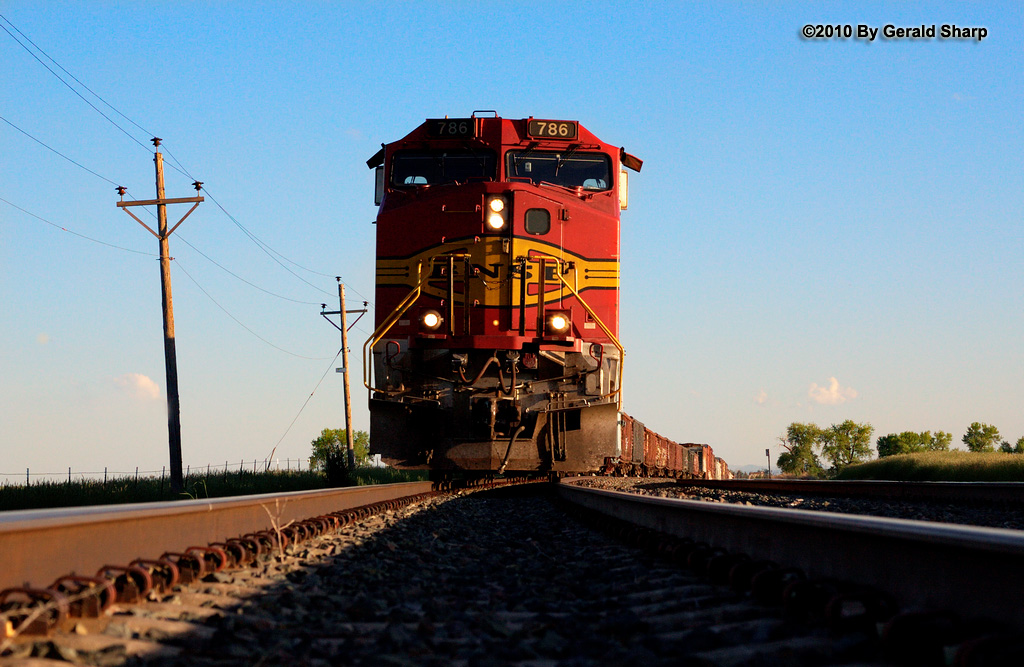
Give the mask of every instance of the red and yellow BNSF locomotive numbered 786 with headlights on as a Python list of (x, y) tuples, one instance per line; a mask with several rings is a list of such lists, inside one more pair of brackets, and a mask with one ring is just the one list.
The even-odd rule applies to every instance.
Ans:
[(623, 167), (577, 121), (428, 120), (375, 169), (371, 451), (396, 467), (591, 471), (618, 455)]

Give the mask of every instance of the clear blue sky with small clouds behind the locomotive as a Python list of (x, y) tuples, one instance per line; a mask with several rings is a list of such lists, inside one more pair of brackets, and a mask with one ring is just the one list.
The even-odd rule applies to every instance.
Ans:
[[(167, 195), (199, 178), (223, 207), (208, 199), (171, 238), (184, 462), (276, 447), (284, 465), (343, 422), (319, 303), (336, 309), (335, 276), (373, 299), (366, 159), (474, 110), (577, 119), (644, 160), (623, 217), (621, 326), (626, 410), (654, 430), (734, 467), (774, 459), (793, 421), (1024, 435), (1018, 3), (0, 13), (131, 119), (36, 52), (118, 129), (0, 32), (0, 472), (166, 463), (157, 242), (109, 182), (154, 196), (153, 134), (190, 174), (169, 167)], [(806, 40), (806, 24), (988, 35)], [(354, 359), (370, 330), (353, 330)]]

